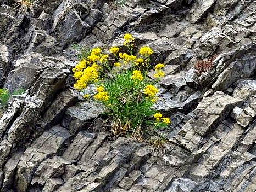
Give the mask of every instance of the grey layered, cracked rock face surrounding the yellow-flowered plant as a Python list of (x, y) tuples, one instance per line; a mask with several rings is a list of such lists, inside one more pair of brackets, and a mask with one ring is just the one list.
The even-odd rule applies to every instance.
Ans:
[[(26, 92), (0, 118), (1, 192), (256, 190), (255, 1), (54, 0), (34, 14), (14, 3), (0, 0), (0, 86)], [(119, 46), (126, 32), (166, 65), (164, 153), (112, 139), (102, 106), (71, 86), (71, 44)]]

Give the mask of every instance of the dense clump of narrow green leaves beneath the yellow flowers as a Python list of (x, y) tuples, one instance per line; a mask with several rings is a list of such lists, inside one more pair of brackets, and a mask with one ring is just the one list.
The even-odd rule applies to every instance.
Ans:
[(134, 132), (141, 127), (146, 118), (155, 113), (155, 110), (151, 109), (153, 102), (141, 91), (150, 84), (149, 79), (135, 81), (131, 77), (132, 71), (127, 70), (104, 83), (109, 95), (109, 100), (105, 101), (105, 105), (108, 106), (105, 113), (113, 117), (113, 131), (116, 133), (126, 133), (129, 127)]

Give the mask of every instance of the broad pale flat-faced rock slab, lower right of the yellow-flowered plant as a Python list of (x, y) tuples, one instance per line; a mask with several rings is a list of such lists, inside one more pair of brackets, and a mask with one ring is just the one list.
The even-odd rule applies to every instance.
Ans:
[(198, 149), (207, 133), (212, 132), (220, 120), (223, 120), (231, 109), (241, 100), (224, 92), (217, 91), (211, 97), (204, 97), (194, 110), (196, 118), (192, 118), (182, 127), (172, 140), (189, 150)]

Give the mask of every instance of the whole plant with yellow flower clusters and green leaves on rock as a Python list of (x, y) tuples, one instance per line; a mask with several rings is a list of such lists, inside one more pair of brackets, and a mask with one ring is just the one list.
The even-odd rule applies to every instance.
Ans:
[(148, 78), (153, 50), (145, 46), (138, 51), (138, 56), (133, 55), (135, 38), (125, 34), (124, 40), (124, 48), (129, 53), (120, 52), (116, 46), (109, 49), (109, 55), (103, 54), (100, 48), (92, 49), (91, 54), (73, 68), (74, 88), (83, 91), (89, 84), (95, 85), (96, 93), (85, 94), (84, 98), (93, 96), (104, 104), (114, 135), (141, 137), (142, 125), (170, 124), (170, 119), (152, 109), (158, 99), (155, 84), (164, 76), (164, 64), (154, 66), (154, 80)]

